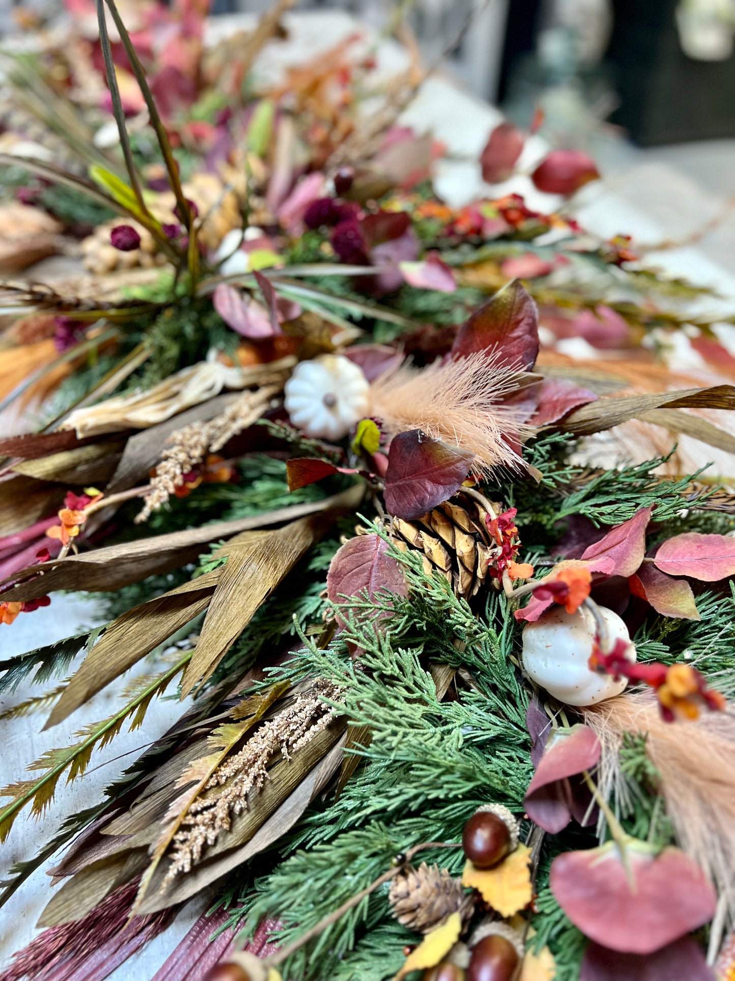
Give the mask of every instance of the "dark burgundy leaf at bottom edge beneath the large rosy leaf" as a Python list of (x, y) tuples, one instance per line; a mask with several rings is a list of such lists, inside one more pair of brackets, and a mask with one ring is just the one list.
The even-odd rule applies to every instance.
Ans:
[(714, 981), (699, 944), (692, 937), (663, 947), (655, 954), (618, 954), (590, 944), (579, 981)]

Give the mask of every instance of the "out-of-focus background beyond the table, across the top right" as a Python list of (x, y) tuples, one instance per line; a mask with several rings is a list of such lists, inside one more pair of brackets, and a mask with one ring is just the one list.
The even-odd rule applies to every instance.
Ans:
[[(258, 15), (268, 0), (213, 0)], [(0, 0), (8, 43), (62, 0)], [(528, 128), (597, 161), (664, 238), (695, 236), (735, 271), (735, 0), (299, 0), (377, 31), (405, 16), (427, 64)], [(448, 52), (448, 53), (447, 53)], [(700, 232), (706, 230), (706, 234)]]

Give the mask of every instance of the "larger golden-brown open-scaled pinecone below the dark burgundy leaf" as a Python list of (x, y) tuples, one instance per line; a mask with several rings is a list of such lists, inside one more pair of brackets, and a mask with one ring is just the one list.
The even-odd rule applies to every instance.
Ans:
[(446, 576), (458, 596), (469, 599), (485, 583), (488, 559), (497, 547), (485, 525), (487, 511), (459, 491), (415, 521), (393, 518), (393, 542), (423, 554), (423, 569)]

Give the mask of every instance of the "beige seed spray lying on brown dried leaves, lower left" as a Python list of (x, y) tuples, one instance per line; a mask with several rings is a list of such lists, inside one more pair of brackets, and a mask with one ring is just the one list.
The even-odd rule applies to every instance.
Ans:
[(229, 831), (230, 816), (248, 806), (251, 790), (260, 792), (268, 779), (268, 767), (278, 751), (284, 759), (311, 742), (332, 719), (332, 709), (323, 698), (334, 700), (339, 689), (319, 678), (308, 691), (268, 720), (251, 736), (243, 749), (224, 760), (206, 784), (207, 790), (223, 787), (220, 794), (196, 800), (173, 836), (172, 863), (165, 884), (179, 872), (188, 872), (202, 856), (205, 846), (214, 845), (221, 831)]

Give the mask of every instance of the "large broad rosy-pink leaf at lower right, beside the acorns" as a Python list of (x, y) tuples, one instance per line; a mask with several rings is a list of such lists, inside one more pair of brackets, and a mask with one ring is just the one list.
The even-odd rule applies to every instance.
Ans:
[(633, 839), (626, 851), (635, 892), (613, 842), (552, 862), (552, 893), (586, 937), (623, 954), (652, 954), (711, 920), (716, 894), (688, 855), (666, 848), (655, 856)]

